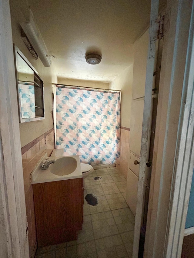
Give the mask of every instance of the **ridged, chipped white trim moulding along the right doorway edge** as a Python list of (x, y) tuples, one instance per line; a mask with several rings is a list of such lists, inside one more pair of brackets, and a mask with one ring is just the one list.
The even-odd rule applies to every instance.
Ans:
[(180, 257), (194, 164), (194, 2), (177, 133), (165, 257)]

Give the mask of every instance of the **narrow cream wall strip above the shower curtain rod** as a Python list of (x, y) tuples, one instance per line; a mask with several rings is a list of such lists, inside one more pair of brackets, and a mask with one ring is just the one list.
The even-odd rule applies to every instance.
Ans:
[(89, 88), (109, 89), (109, 83), (106, 83), (106, 82), (58, 78), (58, 83), (59, 84), (74, 85), (74, 86), (83, 86), (83, 87), (89, 87)]

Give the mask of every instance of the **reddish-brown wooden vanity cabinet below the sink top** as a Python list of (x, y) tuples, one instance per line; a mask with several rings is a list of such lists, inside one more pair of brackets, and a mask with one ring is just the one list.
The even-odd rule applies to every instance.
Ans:
[(33, 184), (38, 247), (77, 239), (83, 223), (83, 178)]

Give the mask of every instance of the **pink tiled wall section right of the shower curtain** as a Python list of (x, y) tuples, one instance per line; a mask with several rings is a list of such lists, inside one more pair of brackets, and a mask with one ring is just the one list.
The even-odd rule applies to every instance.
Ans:
[(127, 127), (121, 126), (121, 139), (120, 139), (120, 165), (116, 168), (120, 173), (127, 178), (128, 158), (129, 158), (129, 131)]

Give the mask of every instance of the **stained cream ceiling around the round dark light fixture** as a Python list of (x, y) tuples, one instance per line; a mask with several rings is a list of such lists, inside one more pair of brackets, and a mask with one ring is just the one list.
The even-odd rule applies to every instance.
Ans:
[[(29, 0), (59, 78), (111, 82), (133, 63), (151, 0)], [(85, 54), (102, 55), (90, 65)]]

